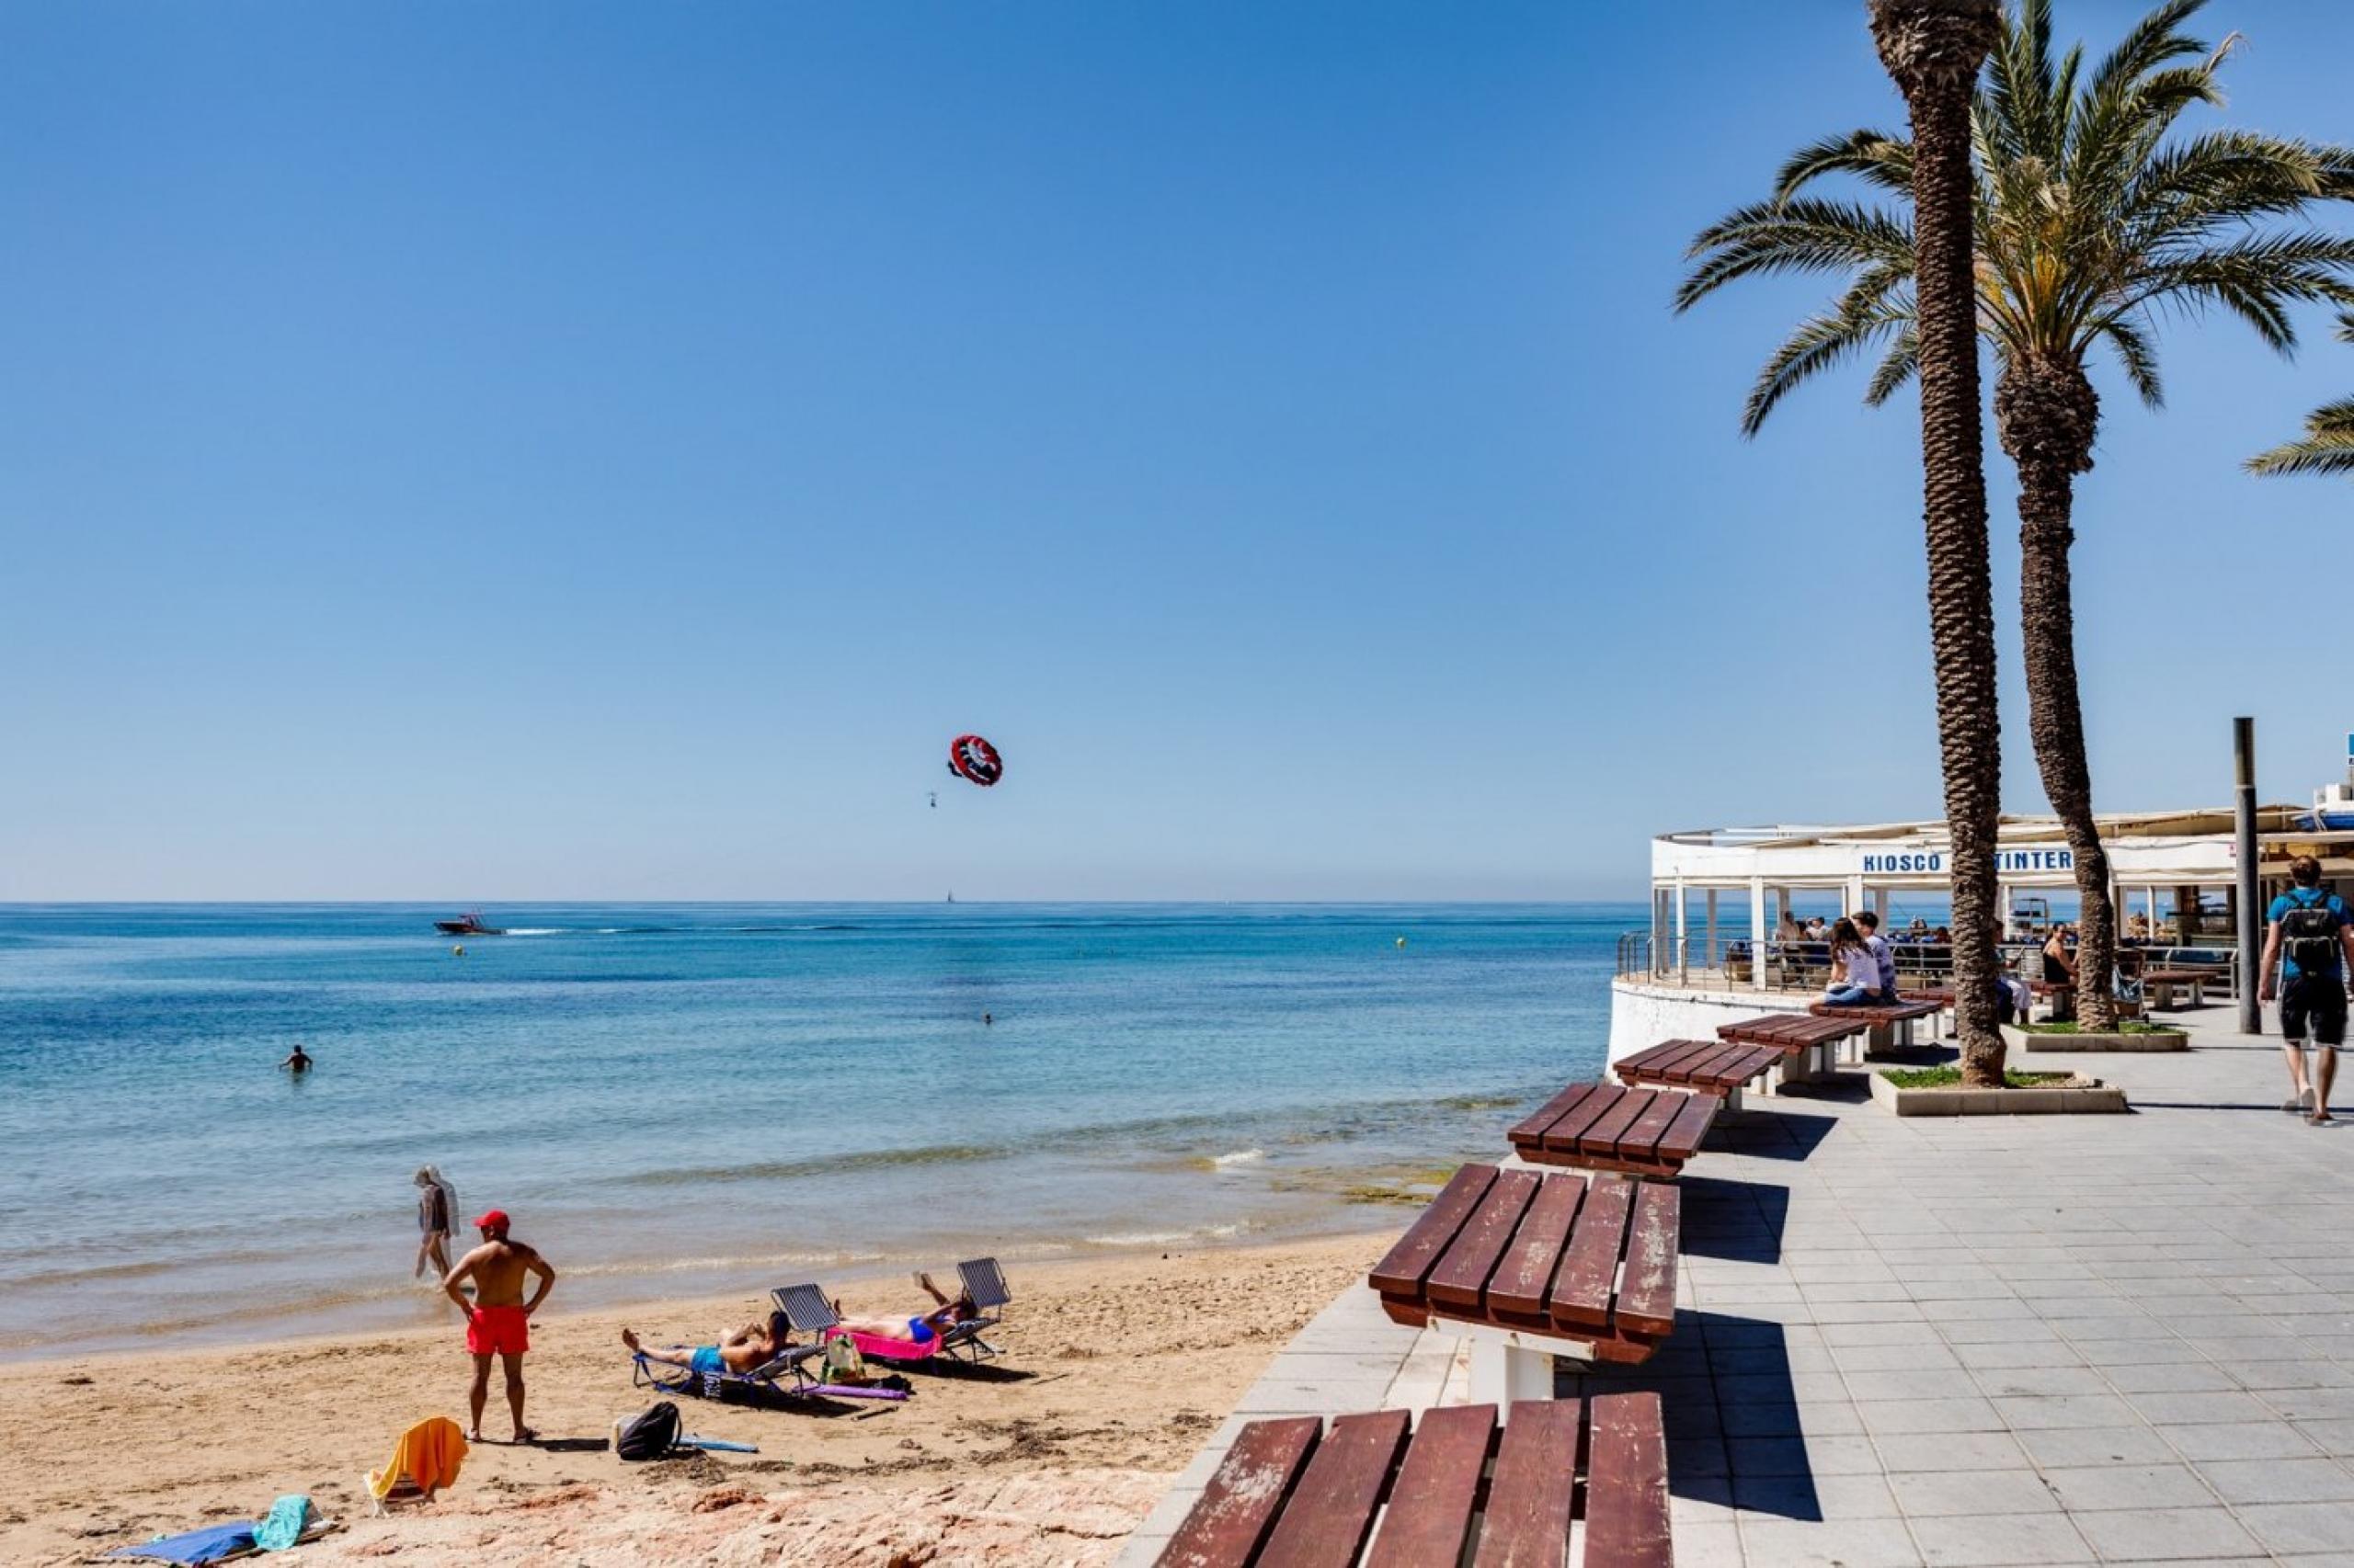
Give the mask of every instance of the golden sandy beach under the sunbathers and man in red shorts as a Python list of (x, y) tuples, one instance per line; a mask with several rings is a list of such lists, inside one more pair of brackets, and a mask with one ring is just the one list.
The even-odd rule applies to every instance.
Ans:
[[(530, 1417), (553, 1448), (478, 1446), (431, 1509), (367, 1519), (365, 1469), (426, 1415), (466, 1417), (447, 1333), (294, 1340), (0, 1368), (0, 1561), (108, 1547), (308, 1493), (346, 1528), (290, 1563), (1099, 1563), (1269, 1356), (1384, 1236), (1057, 1262), (1012, 1276), (993, 1377), (925, 1375), (902, 1406), (810, 1417), (683, 1401), (687, 1429), (758, 1455), (621, 1464), (621, 1326), (711, 1342), (765, 1302), (720, 1297), (534, 1321)], [(560, 1290), (560, 1285), (558, 1285)], [(906, 1278), (843, 1285), (906, 1311)], [(497, 1382), (487, 1431), (506, 1429)]]

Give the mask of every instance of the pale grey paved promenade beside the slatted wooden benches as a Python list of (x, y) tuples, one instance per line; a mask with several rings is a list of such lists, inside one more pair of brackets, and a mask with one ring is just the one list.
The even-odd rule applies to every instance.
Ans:
[[(2013, 1052), (2130, 1116), (1900, 1121), (1848, 1067), (1711, 1137), (1674, 1340), (1561, 1377), (1660, 1389), (1678, 1563), (2354, 1566), (2354, 1121), (2283, 1116), (2229, 1005), (2175, 1017), (2189, 1052)], [(1346, 1293), (1123, 1561), (1241, 1420), (1455, 1403), (1452, 1351)]]

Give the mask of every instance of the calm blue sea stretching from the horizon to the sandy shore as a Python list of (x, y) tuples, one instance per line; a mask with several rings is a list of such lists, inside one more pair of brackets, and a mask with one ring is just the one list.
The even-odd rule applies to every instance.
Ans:
[(0, 1354), (445, 1321), (421, 1163), (574, 1307), (1398, 1220), (1351, 1189), (1601, 1067), (1648, 916), (563, 904), (454, 956), (447, 913), (0, 906)]

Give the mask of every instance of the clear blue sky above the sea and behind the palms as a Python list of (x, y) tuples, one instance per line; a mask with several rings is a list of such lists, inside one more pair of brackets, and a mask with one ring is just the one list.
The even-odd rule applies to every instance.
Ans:
[[(2354, 12), (2203, 26), (2354, 141)], [(1935, 812), (1914, 403), (1744, 443), (1827, 287), (1669, 313), (1864, 122), (1846, 0), (12, 5), (0, 897), (1610, 897)], [(2102, 808), (2243, 711), (2335, 775), (2354, 487), (2236, 471), (2354, 391), (2305, 325), (2104, 381)]]

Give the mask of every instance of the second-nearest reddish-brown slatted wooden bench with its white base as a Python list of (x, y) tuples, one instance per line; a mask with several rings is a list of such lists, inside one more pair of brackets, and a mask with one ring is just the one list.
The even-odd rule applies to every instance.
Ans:
[(1471, 1342), (1471, 1398), (1551, 1398), (1554, 1356), (1660, 1349), (1681, 1236), (1667, 1182), (1464, 1165), (1365, 1283), (1394, 1323)]

